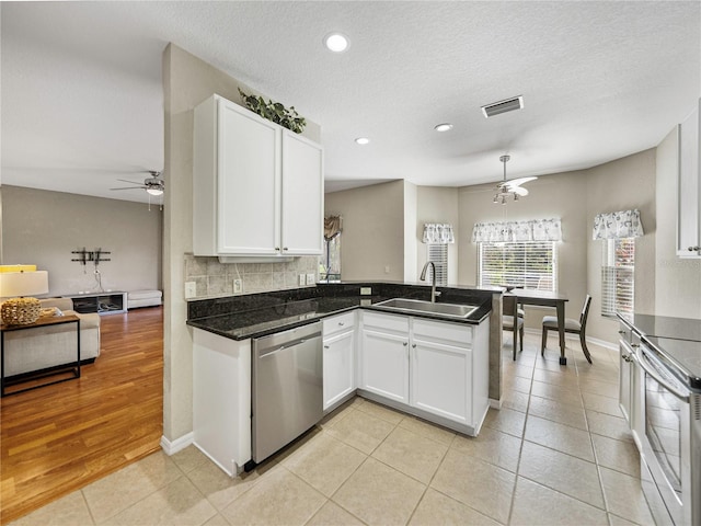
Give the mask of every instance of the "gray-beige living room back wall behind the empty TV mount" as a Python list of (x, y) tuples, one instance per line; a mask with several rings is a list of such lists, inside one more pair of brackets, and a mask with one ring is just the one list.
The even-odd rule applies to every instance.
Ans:
[(161, 289), (158, 206), (8, 185), (2, 199), (2, 262), (48, 271), (49, 295), (97, 291), (94, 264), (71, 261), (83, 247), (112, 252), (97, 266), (105, 290)]

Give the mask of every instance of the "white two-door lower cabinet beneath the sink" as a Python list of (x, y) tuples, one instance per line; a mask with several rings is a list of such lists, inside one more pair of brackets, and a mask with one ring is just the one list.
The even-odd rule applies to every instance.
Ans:
[(468, 325), (364, 311), (361, 327), (361, 390), (479, 433), (489, 409), (489, 320)]

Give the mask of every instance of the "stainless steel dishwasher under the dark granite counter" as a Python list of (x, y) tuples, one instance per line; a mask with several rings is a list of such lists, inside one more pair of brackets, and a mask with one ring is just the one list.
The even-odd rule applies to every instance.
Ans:
[(323, 416), (321, 322), (253, 340), (252, 457), (261, 462)]

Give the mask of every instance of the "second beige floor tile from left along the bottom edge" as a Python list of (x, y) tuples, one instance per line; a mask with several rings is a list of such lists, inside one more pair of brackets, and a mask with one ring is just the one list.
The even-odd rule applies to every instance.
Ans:
[(181, 478), (119, 512), (105, 526), (198, 525), (217, 514), (186, 478)]

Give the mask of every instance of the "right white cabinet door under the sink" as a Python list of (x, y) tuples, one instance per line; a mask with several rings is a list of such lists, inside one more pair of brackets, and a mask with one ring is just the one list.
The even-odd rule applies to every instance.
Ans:
[(414, 338), (411, 404), (472, 425), (472, 352)]

